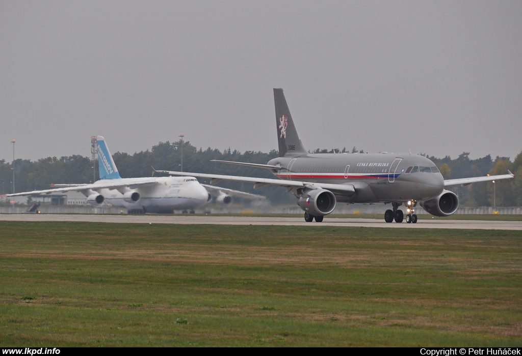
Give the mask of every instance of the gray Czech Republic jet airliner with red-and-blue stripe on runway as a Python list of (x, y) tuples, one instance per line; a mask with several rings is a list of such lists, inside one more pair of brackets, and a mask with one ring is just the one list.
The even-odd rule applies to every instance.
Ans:
[(444, 180), (435, 163), (412, 154), (310, 154), (295, 129), (282, 89), (274, 89), (279, 157), (268, 164), (219, 161), (249, 167), (269, 169), (279, 179), (260, 179), (218, 174), (158, 171), (170, 175), (210, 178), (210, 184), (222, 180), (254, 183), (254, 188), (266, 185), (287, 187), (298, 198), (305, 211), (304, 220), (323, 221), (333, 212), (337, 202), (391, 204), (384, 213), (386, 222), (402, 222), (406, 205), (406, 222), (416, 223), (414, 213), (419, 203), (437, 217), (447, 217), (458, 208), (458, 197), (445, 190), (450, 185), (513, 178), (513, 174)]

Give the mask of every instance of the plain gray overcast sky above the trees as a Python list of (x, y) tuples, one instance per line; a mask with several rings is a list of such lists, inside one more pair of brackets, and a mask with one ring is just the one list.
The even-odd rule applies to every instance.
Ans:
[[(522, 150), (522, 2), (0, 0), (0, 158), (277, 149)], [(162, 168), (162, 167), (160, 167)], [(165, 167), (169, 169), (169, 167)]]

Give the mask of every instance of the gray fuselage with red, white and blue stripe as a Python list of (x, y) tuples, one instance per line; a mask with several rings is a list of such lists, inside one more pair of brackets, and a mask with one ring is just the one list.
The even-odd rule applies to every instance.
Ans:
[(426, 201), (444, 190), (444, 178), (430, 159), (411, 154), (307, 154), (278, 157), (268, 164), (282, 180), (350, 184), (355, 193), (338, 202)]

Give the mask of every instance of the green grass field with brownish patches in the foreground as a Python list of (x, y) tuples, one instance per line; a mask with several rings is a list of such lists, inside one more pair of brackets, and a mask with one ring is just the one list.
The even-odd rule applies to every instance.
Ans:
[(0, 346), (522, 346), (522, 234), (0, 222)]

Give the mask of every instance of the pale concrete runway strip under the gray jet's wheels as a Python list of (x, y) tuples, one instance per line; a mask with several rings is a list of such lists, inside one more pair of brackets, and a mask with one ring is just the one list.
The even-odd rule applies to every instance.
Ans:
[(522, 230), (520, 221), (419, 220), (417, 224), (386, 223), (384, 219), (325, 218), (322, 223), (307, 223), (303, 218), (216, 217), (194, 215), (68, 215), (68, 214), (0, 214), (0, 221), (85, 221), (137, 224), (212, 224), (212, 225), (287, 225), (287, 226), (355, 226), (386, 228), (468, 228), (483, 230)]

